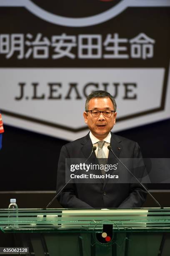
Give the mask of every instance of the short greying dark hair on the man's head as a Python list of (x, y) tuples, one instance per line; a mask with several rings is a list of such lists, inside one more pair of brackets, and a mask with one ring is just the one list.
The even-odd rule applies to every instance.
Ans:
[(113, 98), (113, 96), (109, 92), (105, 92), (105, 91), (94, 91), (94, 92), (91, 92), (87, 96), (87, 99), (86, 99), (86, 102), (85, 102), (85, 111), (88, 110), (88, 103), (93, 98), (110, 98), (110, 100), (113, 103), (113, 108), (116, 111), (117, 105), (116, 105), (115, 99)]

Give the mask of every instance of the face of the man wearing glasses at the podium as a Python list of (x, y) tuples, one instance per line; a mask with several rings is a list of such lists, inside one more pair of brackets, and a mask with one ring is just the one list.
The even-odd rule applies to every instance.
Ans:
[[(114, 110), (113, 103), (110, 98), (92, 98), (88, 104), (88, 110)], [(83, 113), (85, 118), (85, 123), (87, 123), (92, 134), (99, 140), (104, 139), (110, 130), (113, 128), (113, 125), (116, 122), (117, 113), (112, 113), (111, 117), (105, 117), (100, 113), (99, 117), (92, 117), (90, 112)]]

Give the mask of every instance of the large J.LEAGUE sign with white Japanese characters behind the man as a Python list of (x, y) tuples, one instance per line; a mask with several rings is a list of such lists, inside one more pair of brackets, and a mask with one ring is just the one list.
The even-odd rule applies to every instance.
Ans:
[(4, 123), (80, 138), (94, 90), (115, 97), (114, 131), (170, 118), (169, 1), (51, 2), (0, 0)]

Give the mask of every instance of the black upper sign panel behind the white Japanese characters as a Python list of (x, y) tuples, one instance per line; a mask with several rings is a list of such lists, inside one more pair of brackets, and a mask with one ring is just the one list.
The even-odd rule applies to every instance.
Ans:
[[(85, 1), (84, 1), (85, 2)], [(17, 17), (17, 18), (16, 18)], [(49, 47), (49, 58), (34, 59), (32, 54), (28, 59), (25, 54), (30, 46), (25, 45), (25, 54), (22, 59), (18, 59), (18, 51), (15, 51), (10, 59), (6, 54), (0, 54), (0, 67), (168, 67), (170, 59), (170, 8), (127, 8), (119, 15), (95, 26), (87, 27), (65, 27), (56, 26), (33, 15), (25, 8), (0, 8), (1, 34), (23, 34), (25, 42), (32, 43), (37, 34), (41, 33), (41, 41), (47, 37), (51, 43), (52, 36), (60, 36), (65, 33), (67, 36), (76, 36), (77, 46), (72, 47), (71, 53), (75, 54), (75, 59), (64, 56), (60, 59), (52, 59), (55, 54), (54, 47)], [(30, 33), (33, 38), (28, 39)], [(128, 40), (135, 38), (140, 33), (155, 40), (154, 54), (152, 58), (129, 58), (129, 59), (81, 59), (78, 57), (78, 35), (101, 35), (104, 43), (107, 34), (113, 36), (118, 33), (119, 38)], [(126, 46), (126, 54), (130, 55), (130, 43), (121, 44)], [(102, 47), (102, 55), (111, 53)]]

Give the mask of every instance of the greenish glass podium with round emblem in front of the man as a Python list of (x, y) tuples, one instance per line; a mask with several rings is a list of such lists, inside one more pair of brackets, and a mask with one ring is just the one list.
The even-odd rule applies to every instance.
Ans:
[(35, 256), (170, 255), (170, 208), (0, 209), (0, 230)]

